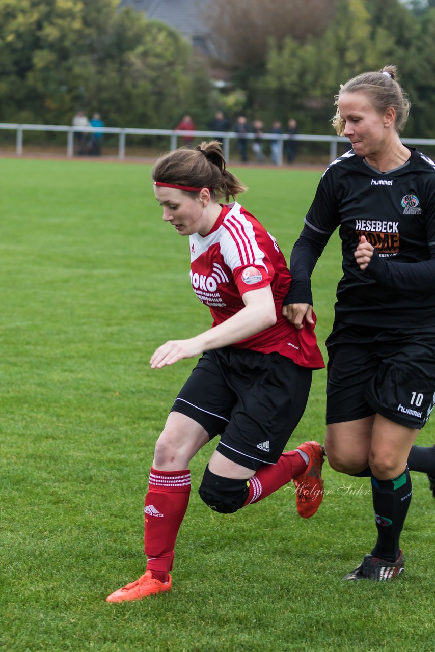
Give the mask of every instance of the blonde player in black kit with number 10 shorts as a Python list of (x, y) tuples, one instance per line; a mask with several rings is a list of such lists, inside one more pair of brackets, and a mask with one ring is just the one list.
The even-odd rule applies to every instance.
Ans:
[(371, 476), (378, 529), (344, 579), (391, 580), (404, 570), (409, 469), (435, 475), (435, 449), (413, 446), (435, 399), (435, 163), (400, 141), (410, 104), (396, 67), (349, 80), (336, 99), (333, 125), (352, 149), (320, 181), (292, 251), (283, 313), (297, 328), (312, 322), (310, 276), (338, 227), (325, 448), (337, 471)]

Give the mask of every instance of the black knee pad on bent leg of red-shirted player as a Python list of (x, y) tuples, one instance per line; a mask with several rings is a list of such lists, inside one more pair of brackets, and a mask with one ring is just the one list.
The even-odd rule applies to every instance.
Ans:
[(248, 481), (215, 475), (207, 464), (198, 493), (211, 509), (221, 514), (233, 514), (245, 504)]

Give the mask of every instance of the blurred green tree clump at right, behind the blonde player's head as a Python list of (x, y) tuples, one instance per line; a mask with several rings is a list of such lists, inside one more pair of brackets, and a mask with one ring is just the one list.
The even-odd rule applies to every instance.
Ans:
[[(431, 0), (432, 1), (432, 0)], [(245, 110), (271, 123), (296, 117), (305, 133), (332, 133), (328, 126), (340, 83), (367, 70), (397, 65), (412, 101), (405, 136), (432, 133), (435, 9), (420, 17), (399, 0), (336, 0), (333, 20), (316, 37), (271, 37), (256, 74), (237, 80), (247, 90)]]

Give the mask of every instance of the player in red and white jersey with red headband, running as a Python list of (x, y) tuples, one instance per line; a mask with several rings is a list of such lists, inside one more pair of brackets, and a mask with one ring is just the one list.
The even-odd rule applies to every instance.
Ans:
[(291, 480), (303, 518), (323, 497), (322, 446), (308, 441), (282, 452), (307, 404), (312, 369), (324, 364), (314, 323), (300, 331), (282, 316), (291, 277), (275, 238), (236, 201), (219, 203), (245, 186), (226, 169), (217, 141), (162, 156), (152, 177), (164, 221), (189, 237), (192, 288), (214, 321), (151, 357), (151, 368), (159, 369), (201, 356), (155, 447), (145, 497), (147, 569), (108, 602), (170, 590), (190, 494), (188, 465), (216, 435), (199, 490), (211, 509), (235, 512)]

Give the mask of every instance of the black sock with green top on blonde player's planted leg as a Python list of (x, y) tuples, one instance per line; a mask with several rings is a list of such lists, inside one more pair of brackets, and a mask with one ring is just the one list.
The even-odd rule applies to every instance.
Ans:
[(412, 496), (408, 467), (391, 480), (379, 480), (372, 475), (372, 494), (378, 541), (371, 554), (385, 561), (396, 561), (400, 554), (400, 533)]

